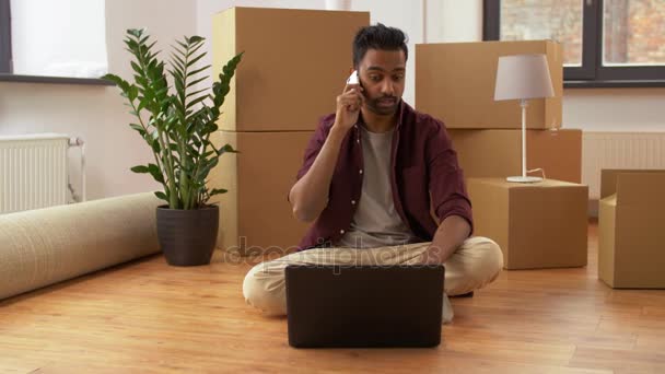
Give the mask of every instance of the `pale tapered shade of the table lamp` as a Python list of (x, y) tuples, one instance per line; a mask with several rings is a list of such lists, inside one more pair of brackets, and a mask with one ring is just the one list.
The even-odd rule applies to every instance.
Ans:
[(545, 55), (499, 57), (494, 100), (522, 100), (555, 95)]

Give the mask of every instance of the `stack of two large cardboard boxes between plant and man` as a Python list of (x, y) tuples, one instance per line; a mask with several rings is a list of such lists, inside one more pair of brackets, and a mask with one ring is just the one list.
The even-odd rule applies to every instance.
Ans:
[[(368, 12), (232, 8), (213, 17), (213, 77), (244, 51), (222, 107), (224, 154), (210, 185), (219, 196), (218, 247), (241, 254), (287, 250), (306, 224), (287, 200), (320, 116), (335, 110), (351, 66), (351, 42)], [(322, 57), (325, 56), (325, 57)]]

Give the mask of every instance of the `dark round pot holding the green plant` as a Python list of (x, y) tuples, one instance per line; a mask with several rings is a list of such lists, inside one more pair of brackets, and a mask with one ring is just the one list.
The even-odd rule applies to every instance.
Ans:
[(217, 243), (220, 208), (195, 210), (158, 208), (158, 238), (166, 262), (174, 266), (210, 264)]

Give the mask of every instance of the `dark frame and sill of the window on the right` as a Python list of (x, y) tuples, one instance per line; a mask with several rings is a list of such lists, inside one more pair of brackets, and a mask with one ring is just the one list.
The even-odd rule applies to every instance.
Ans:
[[(603, 66), (604, 0), (582, 1), (582, 66), (563, 68), (563, 86), (665, 86), (665, 66)], [(501, 0), (483, 0), (482, 10), (482, 39), (499, 40), (501, 33)]]

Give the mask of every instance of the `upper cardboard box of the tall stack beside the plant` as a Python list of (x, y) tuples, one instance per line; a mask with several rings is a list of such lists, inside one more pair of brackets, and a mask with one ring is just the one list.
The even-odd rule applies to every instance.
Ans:
[(335, 112), (369, 12), (231, 8), (212, 20), (212, 72), (245, 51), (219, 126), (230, 131), (314, 130)]

